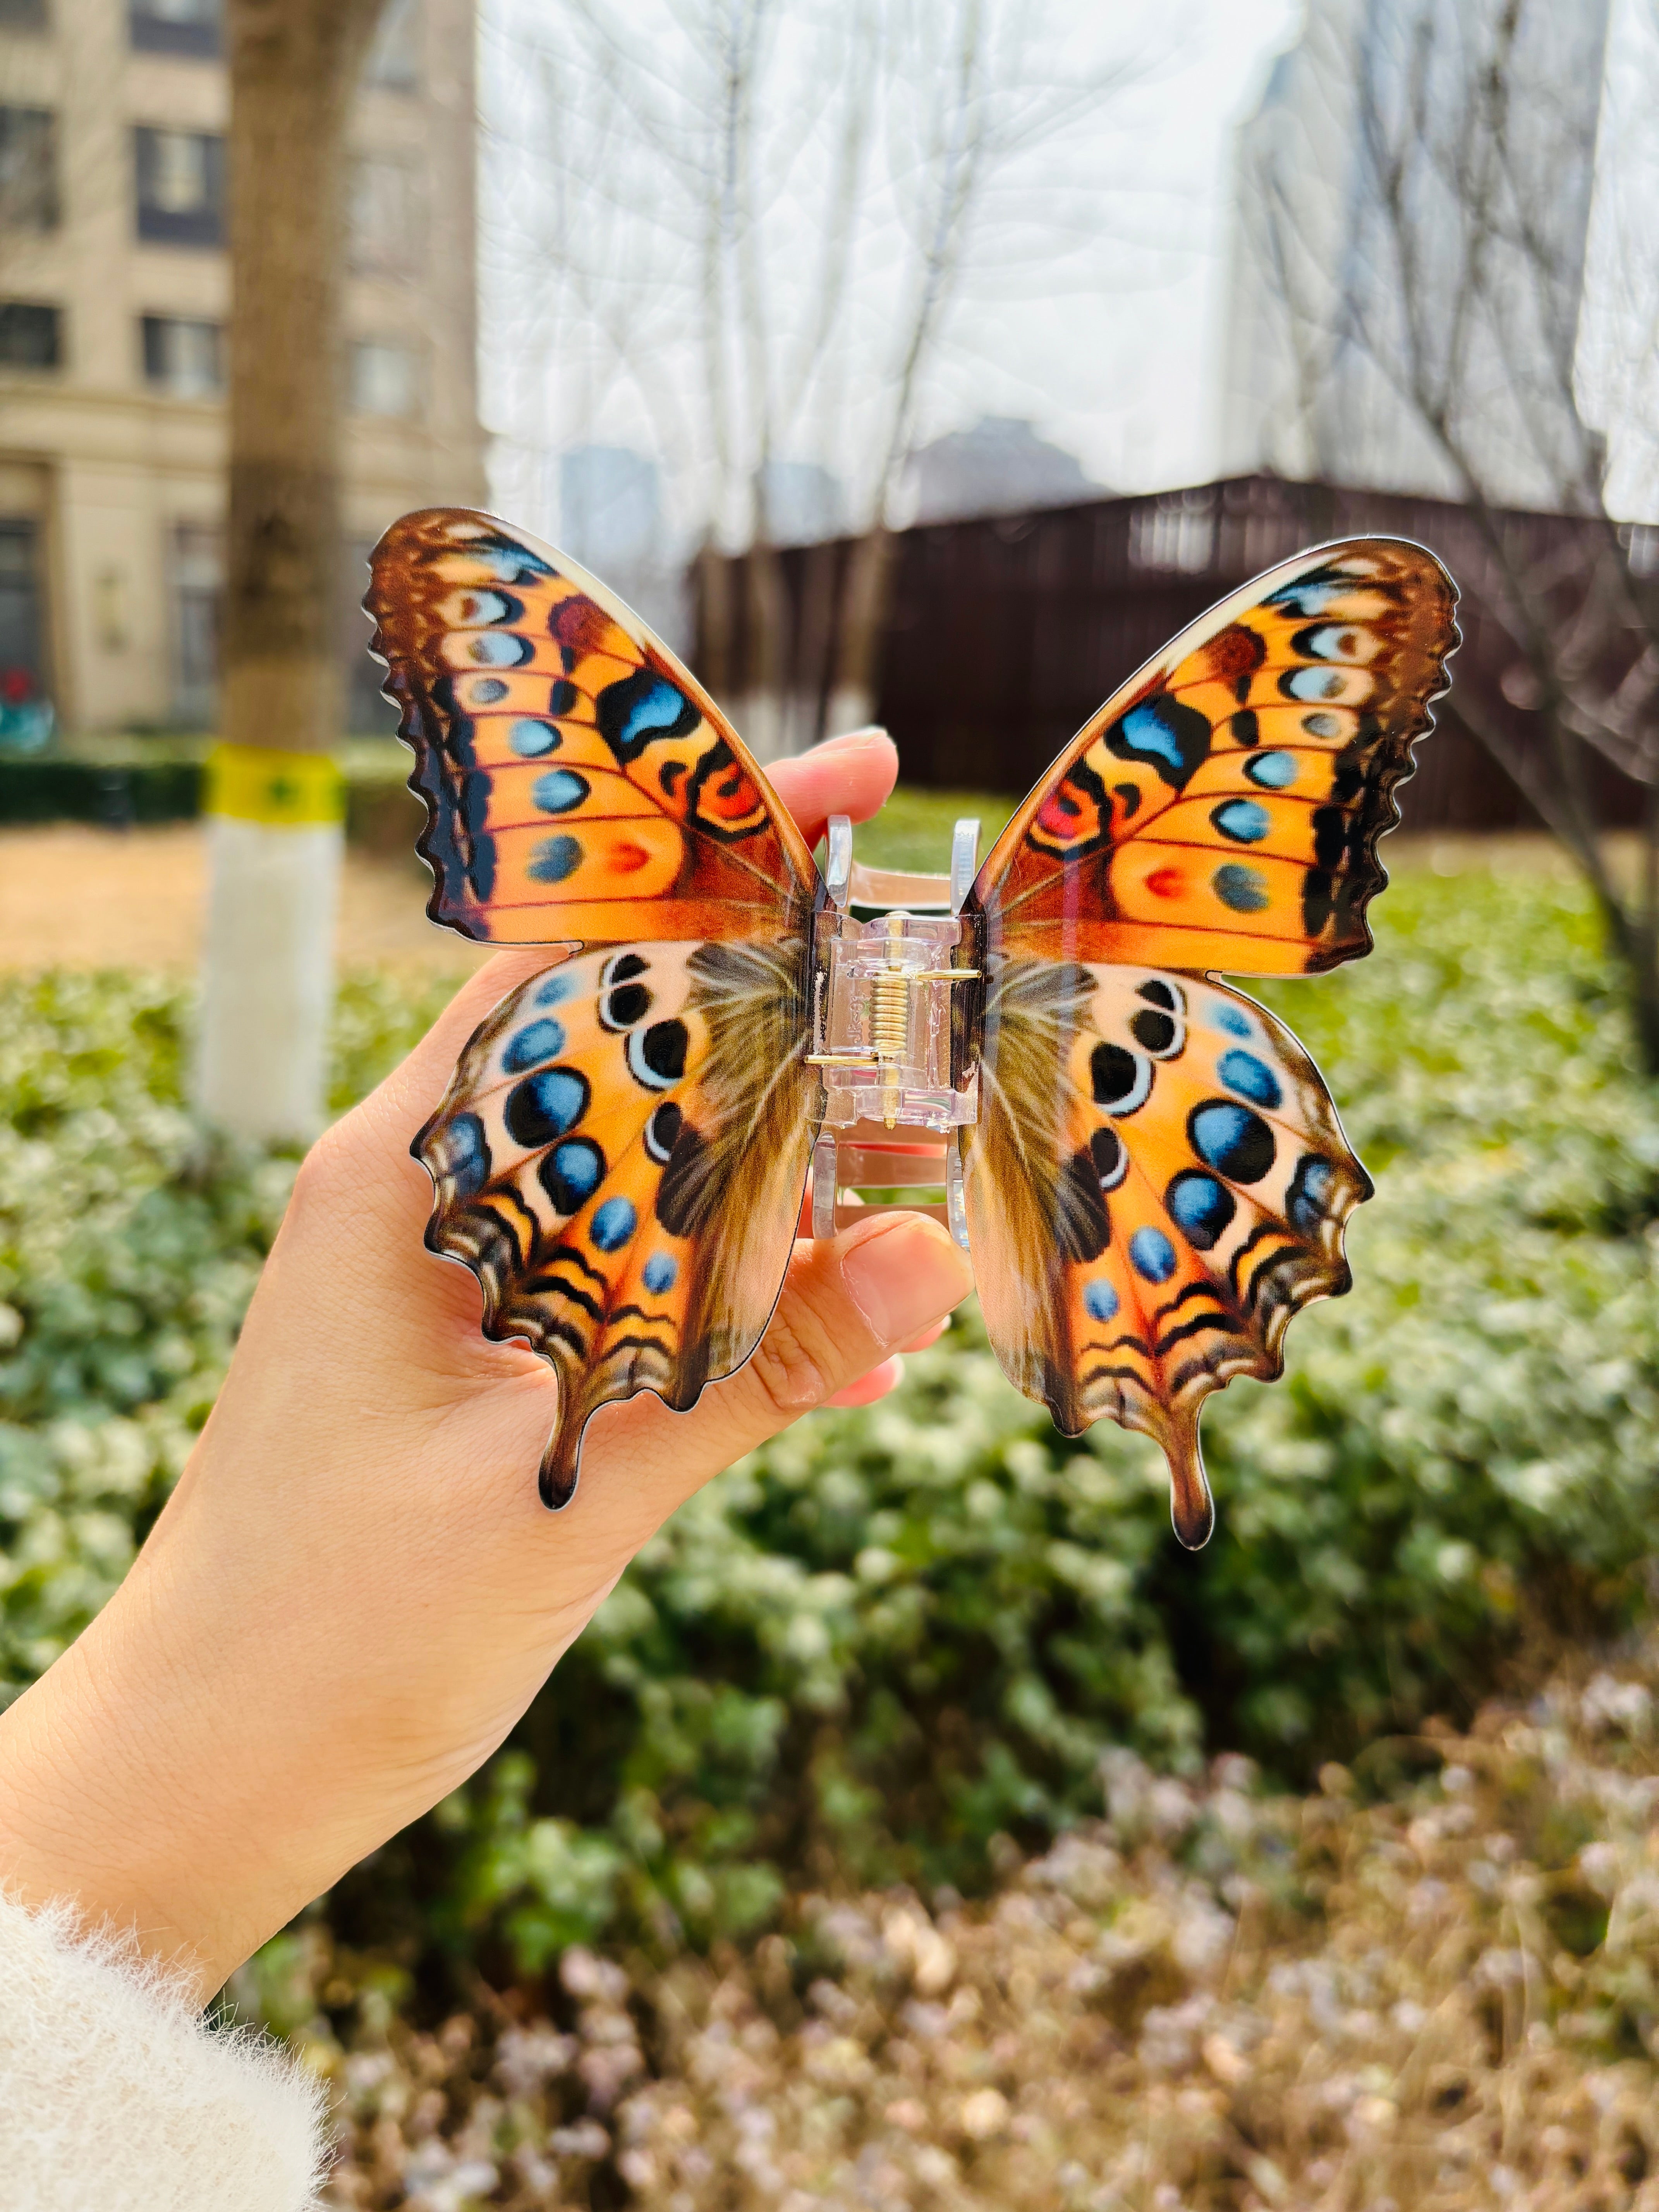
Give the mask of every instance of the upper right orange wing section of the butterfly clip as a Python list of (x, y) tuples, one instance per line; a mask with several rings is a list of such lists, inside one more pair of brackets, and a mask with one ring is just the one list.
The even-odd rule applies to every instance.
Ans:
[(1303, 553), (1203, 615), (1073, 739), (971, 911), (1055, 960), (1234, 975), (1365, 953), (1378, 836), (1458, 641), (1422, 546)]

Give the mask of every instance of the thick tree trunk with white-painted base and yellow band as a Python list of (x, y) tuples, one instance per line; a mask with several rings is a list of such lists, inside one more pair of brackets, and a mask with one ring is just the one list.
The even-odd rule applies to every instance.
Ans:
[(345, 131), (383, 0), (228, 0), (230, 544), (197, 1093), (323, 1119), (341, 867)]

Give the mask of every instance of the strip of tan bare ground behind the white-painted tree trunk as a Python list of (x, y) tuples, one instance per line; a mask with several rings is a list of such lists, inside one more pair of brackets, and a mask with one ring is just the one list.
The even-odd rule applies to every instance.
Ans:
[[(0, 969), (192, 969), (208, 887), (195, 823), (84, 830), (53, 823), (0, 832)], [(425, 914), (429, 876), (414, 858), (347, 849), (341, 885), (343, 964), (422, 967), (465, 975), (484, 953)]]

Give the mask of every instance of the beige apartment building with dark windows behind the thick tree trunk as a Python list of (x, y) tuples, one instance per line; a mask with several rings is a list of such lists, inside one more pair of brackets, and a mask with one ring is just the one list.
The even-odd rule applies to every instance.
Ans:
[[(71, 730), (215, 712), (226, 119), (219, 0), (0, 0), (0, 681), (33, 672)], [(361, 553), (482, 495), (471, 0), (392, 0), (347, 217)], [(363, 637), (343, 604), (354, 728), (385, 717)]]

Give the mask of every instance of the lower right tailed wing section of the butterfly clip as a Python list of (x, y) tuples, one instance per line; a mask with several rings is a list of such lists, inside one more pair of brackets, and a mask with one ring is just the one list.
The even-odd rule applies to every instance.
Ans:
[(1155, 1436), (1201, 1544), (1199, 1405), (1276, 1376), (1296, 1307), (1347, 1290), (1367, 1175), (1283, 1022), (1194, 975), (1000, 962), (984, 1068), (962, 1152), (998, 1358), (1068, 1436)]

